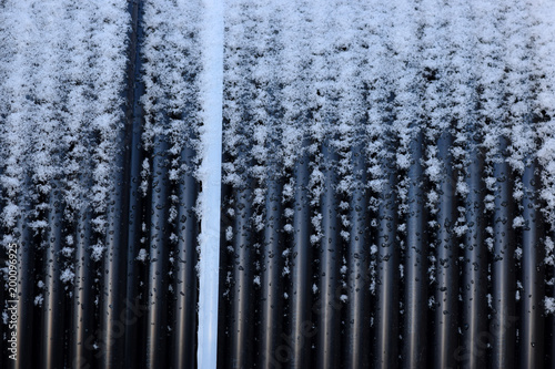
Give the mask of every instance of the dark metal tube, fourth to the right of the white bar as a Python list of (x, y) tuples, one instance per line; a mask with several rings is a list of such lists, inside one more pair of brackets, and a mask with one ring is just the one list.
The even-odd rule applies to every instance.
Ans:
[(337, 368), (341, 346), (337, 345), (341, 320), (341, 281), (340, 263), (342, 260), (340, 229), (337, 222), (337, 195), (334, 186), (337, 183), (334, 165), (337, 154), (329, 140), (323, 143), (324, 192), (321, 199), (322, 233), (320, 243), (319, 290), (316, 336), (316, 367)]

